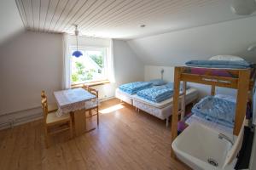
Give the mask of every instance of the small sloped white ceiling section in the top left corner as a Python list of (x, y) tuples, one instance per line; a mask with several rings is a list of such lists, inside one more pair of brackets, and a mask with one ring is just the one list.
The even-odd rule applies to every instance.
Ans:
[(0, 1), (0, 44), (24, 30), (15, 0)]

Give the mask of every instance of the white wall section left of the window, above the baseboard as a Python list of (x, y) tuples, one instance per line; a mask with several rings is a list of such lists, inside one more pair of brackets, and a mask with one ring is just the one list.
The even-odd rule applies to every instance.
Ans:
[(40, 92), (49, 101), (61, 89), (61, 34), (26, 31), (0, 47), (0, 114), (40, 106)]

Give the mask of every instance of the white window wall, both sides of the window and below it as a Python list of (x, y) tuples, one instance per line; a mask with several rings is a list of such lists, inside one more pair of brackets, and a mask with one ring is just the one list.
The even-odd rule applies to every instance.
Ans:
[[(32, 31), (0, 46), (0, 125), (9, 119), (40, 114), (42, 89), (49, 102), (55, 101), (53, 92), (61, 90), (62, 49), (61, 34)], [(113, 97), (121, 83), (143, 80), (143, 64), (127, 42), (113, 40), (113, 61), (116, 82), (96, 87), (100, 99)]]

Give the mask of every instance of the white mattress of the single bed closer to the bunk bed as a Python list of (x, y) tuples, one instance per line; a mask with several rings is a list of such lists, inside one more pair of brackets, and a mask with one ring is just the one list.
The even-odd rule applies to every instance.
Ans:
[[(197, 98), (197, 95), (198, 95), (198, 92), (195, 88), (189, 88), (186, 91), (186, 100), (188, 100), (188, 101), (190, 101), (191, 99), (193, 100), (193, 99)], [(151, 106), (154, 106), (157, 108), (164, 108), (167, 105), (171, 105), (172, 100), (173, 100), (173, 98), (171, 98), (171, 99), (166, 99), (160, 103), (156, 103), (156, 102), (150, 101), (148, 99), (143, 99), (142, 97), (137, 96), (137, 94), (132, 95), (132, 98), (140, 101), (141, 103), (145, 103), (147, 105), (151, 105)]]

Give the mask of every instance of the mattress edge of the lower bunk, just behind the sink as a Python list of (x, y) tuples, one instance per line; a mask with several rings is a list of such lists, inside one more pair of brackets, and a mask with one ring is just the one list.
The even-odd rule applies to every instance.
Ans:
[(233, 128), (225, 127), (216, 122), (207, 121), (206, 119), (201, 118), (200, 116), (196, 116), (195, 114), (190, 116), (185, 122), (189, 125), (191, 125), (192, 123), (201, 123), (207, 127), (211, 127), (215, 129), (219, 133), (224, 133), (225, 135), (228, 135), (228, 136), (233, 134)]

